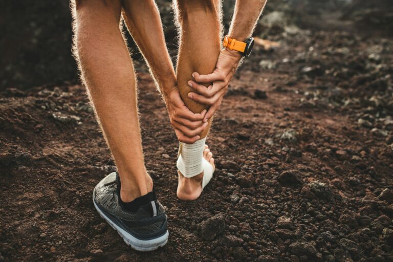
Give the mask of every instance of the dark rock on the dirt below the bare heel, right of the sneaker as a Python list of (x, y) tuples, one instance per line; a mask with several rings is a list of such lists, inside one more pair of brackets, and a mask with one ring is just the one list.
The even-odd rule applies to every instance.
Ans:
[(202, 239), (211, 241), (221, 234), (225, 228), (225, 218), (222, 213), (216, 214), (198, 225), (198, 232)]

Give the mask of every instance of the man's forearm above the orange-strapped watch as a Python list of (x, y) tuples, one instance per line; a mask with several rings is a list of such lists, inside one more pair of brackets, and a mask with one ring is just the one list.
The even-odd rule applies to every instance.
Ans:
[(249, 38), (267, 0), (236, 0), (229, 36), (239, 41)]

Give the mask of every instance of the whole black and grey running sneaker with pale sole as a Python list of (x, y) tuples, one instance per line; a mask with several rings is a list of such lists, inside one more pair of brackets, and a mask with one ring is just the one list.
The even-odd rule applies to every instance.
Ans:
[(114, 172), (101, 180), (93, 191), (93, 203), (101, 217), (124, 239), (139, 251), (151, 251), (168, 241), (164, 207), (153, 193), (151, 202), (130, 212), (120, 200), (120, 179)]

